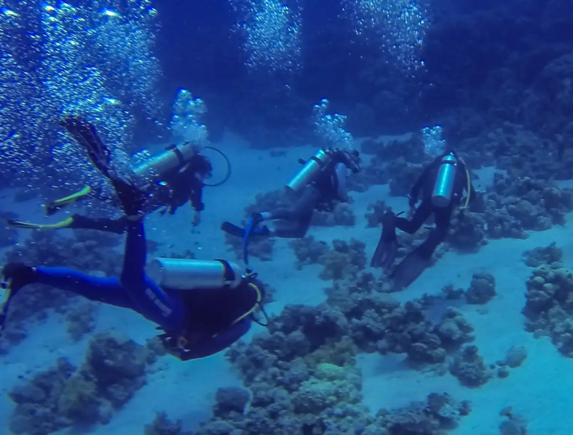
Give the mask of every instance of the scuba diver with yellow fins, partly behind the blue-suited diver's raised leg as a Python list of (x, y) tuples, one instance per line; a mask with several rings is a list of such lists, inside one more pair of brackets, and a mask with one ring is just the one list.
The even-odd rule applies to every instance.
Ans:
[[(61, 124), (85, 148), (107, 149), (91, 123), (70, 116)], [(146, 183), (144, 190), (150, 199), (146, 202), (145, 213), (161, 209), (160, 213), (162, 214), (166, 211), (169, 214), (174, 214), (178, 207), (189, 201), (194, 209), (192, 224), (193, 226), (199, 225), (201, 211), (205, 208), (202, 202), (203, 186), (205, 180), (211, 177), (212, 170), (213, 167), (209, 158), (200, 154), (198, 147), (191, 142), (171, 145), (160, 154), (139, 164), (134, 168), (133, 175)], [(109, 195), (104, 195), (103, 189), (100, 189), (100, 193), (97, 193), (97, 190), (91, 186), (86, 186), (72, 195), (52, 201), (45, 206), (45, 213), (47, 216), (53, 215), (88, 195), (101, 201), (116, 202), (116, 198), (109, 198)], [(94, 229), (117, 234), (123, 234), (127, 229), (127, 221), (124, 216), (118, 219), (108, 219), (90, 218), (80, 214), (74, 214), (64, 221), (50, 225), (15, 220), (9, 220), (7, 224), (26, 229)]]

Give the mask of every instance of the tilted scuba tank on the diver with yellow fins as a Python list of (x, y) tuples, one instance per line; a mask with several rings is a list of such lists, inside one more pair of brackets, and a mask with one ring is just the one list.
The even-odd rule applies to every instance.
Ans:
[(170, 145), (158, 155), (136, 166), (134, 173), (148, 181), (158, 181), (157, 179), (163, 177), (164, 174), (189, 162), (195, 154), (197, 154), (197, 147), (192, 142)]

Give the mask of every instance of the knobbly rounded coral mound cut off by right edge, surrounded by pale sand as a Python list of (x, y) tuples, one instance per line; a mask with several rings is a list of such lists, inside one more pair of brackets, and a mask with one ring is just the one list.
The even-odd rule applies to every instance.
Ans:
[(523, 314), (525, 330), (536, 337), (548, 335), (559, 351), (573, 357), (573, 272), (543, 265), (527, 279)]

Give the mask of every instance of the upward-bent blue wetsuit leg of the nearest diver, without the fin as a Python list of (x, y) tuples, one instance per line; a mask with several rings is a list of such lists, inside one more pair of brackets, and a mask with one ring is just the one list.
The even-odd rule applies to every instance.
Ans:
[(127, 241), (120, 282), (132, 304), (145, 318), (162, 327), (178, 329), (185, 313), (178, 297), (168, 295), (145, 273), (147, 242), (143, 218), (127, 220)]

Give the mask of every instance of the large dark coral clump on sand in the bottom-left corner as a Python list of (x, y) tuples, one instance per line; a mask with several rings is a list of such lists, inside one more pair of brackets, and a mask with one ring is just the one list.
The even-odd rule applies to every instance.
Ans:
[(72, 425), (105, 424), (146, 382), (146, 349), (111, 334), (97, 334), (76, 369), (58, 359), (9, 393), (15, 434), (46, 435)]

